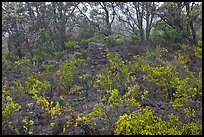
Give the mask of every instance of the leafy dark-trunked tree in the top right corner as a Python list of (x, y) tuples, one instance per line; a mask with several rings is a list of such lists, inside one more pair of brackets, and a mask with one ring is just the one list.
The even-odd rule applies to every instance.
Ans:
[(190, 45), (197, 43), (194, 22), (198, 15), (193, 14), (194, 2), (165, 2), (157, 10), (160, 19), (187, 39)]

